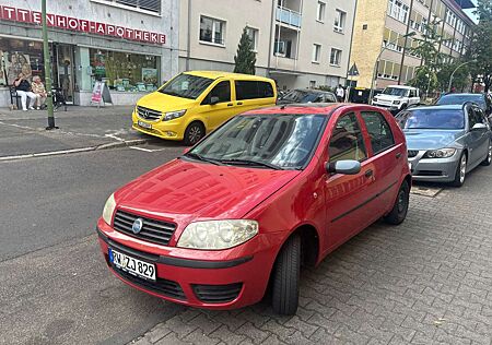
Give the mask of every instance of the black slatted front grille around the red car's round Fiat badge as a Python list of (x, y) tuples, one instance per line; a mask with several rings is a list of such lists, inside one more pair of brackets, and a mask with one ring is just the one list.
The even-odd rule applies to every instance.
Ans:
[[(138, 218), (142, 219), (143, 225), (140, 233), (134, 234), (131, 227)], [(115, 230), (126, 235), (164, 246), (167, 246), (174, 230), (176, 230), (176, 224), (140, 217), (120, 210), (116, 211), (113, 227)]]

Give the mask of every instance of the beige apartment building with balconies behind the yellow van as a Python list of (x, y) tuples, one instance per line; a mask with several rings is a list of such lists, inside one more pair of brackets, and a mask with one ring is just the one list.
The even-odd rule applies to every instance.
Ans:
[(234, 69), (243, 28), (256, 73), (282, 90), (344, 83), (355, 0), (181, 0), (179, 69)]

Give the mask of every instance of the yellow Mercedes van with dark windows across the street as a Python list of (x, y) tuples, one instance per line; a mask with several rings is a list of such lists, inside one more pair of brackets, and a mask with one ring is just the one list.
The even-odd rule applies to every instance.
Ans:
[(132, 128), (151, 135), (196, 144), (237, 114), (273, 106), (273, 80), (215, 71), (176, 75), (137, 102)]

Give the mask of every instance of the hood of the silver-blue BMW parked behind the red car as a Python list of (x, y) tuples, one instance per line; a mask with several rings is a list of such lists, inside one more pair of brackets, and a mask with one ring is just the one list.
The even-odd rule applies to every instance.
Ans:
[(456, 140), (465, 135), (464, 130), (436, 131), (436, 130), (406, 130), (408, 150), (437, 150), (452, 145)]

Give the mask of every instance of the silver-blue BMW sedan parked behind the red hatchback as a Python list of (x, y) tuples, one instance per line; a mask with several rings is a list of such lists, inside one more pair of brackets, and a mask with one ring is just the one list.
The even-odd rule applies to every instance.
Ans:
[(418, 107), (396, 120), (407, 138), (414, 180), (460, 187), (467, 172), (491, 164), (491, 128), (475, 104)]

